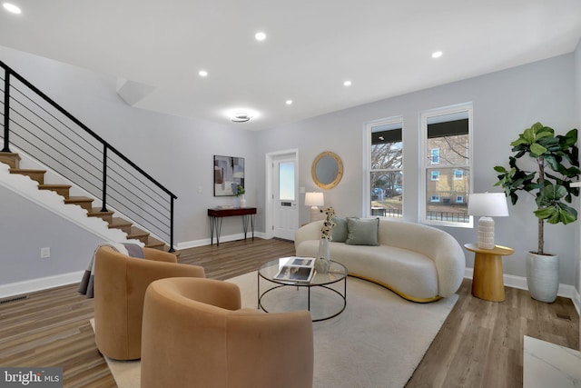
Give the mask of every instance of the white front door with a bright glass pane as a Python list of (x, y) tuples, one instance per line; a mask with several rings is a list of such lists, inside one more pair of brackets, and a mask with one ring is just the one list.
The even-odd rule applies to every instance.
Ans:
[(273, 236), (294, 240), (299, 227), (297, 208), (296, 154), (283, 154), (272, 158), (272, 215)]

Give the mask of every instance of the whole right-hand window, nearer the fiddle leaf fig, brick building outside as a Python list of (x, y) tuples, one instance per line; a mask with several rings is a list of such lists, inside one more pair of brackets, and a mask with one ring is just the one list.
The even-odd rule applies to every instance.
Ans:
[(472, 104), (421, 114), (422, 222), (472, 226), (468, 215), (471, 187)]

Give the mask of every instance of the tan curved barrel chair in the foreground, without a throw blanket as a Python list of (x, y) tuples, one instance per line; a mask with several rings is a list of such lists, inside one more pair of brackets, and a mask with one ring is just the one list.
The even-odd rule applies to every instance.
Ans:
[(310, 319), (241, 309), (228, 282), (155, 281), (143, 306), (142, 388), (311, 387)]

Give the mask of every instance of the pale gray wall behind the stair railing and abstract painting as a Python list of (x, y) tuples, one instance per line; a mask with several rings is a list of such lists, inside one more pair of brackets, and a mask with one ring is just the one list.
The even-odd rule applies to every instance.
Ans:
[[(178, 196), (175, 243), (209, 238), (208, 207), (233, 203), (233, 197), (213, 196), (214, 154), (245, 158), (248, 204), (257, 204), (254, 171), (263, 162), (243, 124), (133, 108), (116, 94), (115, 77), (36, 55), (0, 46), (0, 59)], [(258, 227), (263, 228), (260, 222)], [(240, 232), (240, 220), (224, 222), (222, 234)]]

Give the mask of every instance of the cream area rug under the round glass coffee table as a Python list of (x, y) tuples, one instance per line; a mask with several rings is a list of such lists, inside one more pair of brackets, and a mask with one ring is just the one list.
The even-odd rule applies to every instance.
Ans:
[[(257, 308), (256, 272), (228, 282), (241, 288), (242, 306)], [(261, 292), (270, 287), (261, 279)], [(343, 292), (343, 283), (333, 288)], [(311, 289), (313, 318), (340, 310), (342, 300), (329, 290)], [(458, 295), (433, 303), (413, 303), (378, 284), (347, 280), (347, 306), (328, 321), (313, 323), (315, 388), (394, 388), (408, 382), (434, 340)], [(270, 312), (306, 309), (303, 287), (282, 287), (267, 293), (262, 304)], [(140, 386), (140, 362), (107, 360), (120, 388)]]

